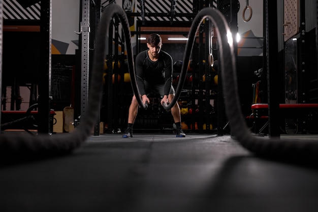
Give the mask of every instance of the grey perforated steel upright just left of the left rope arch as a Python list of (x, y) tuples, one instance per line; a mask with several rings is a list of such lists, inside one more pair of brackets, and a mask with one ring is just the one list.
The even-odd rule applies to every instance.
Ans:
[(90, 0), (82, 0), (81, 21), (81, 116), (85, 115), (88, 104), (89, 82), (89, 3)]

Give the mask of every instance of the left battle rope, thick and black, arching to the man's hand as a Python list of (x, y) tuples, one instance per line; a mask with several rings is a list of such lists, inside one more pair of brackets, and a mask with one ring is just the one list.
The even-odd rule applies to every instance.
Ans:
[[(21, 136), (17, 134), (0, 135), (0, 157), (30, 157), (42, 158), (71, 153), (79, 147), (90, 135), (97, 117), (99, 115), (99, 105), (103, 90), (103, 70), (106, 53), (106, 35), (108, 35), (109, 25), (112, 18), (117, 15), (123, 26), (129, 26), (125, 12), (116, 4), (110, 5), (104, 11), (96, 35), (96, 51), (90, 77), (90, 89), (88, 94), (88, 105), (85, 114), (81, 117), (81, 124), (72, 133), (38, 136)], [(124, 36), (128, 51), (129, 70), (134, 70), (133, 48), (131, 43), (131, 33), (129, 27), (124, 28)], [(136, 81), (134, 72), (131, 78)], [(138, 94), (138, 87), (132, 84), (135, 93)], [(140, 100), (139, 100), (140, 101)], [(139, 103), (142, 103), (141, 101)], [(143, 104), (141, 104), (143, 105)], [(146, 105), (143, 105), (146, 108)]]

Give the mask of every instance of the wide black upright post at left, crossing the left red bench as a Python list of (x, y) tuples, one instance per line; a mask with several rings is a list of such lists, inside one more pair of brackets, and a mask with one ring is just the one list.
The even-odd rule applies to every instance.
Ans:
[(50, 132), (52, 0), (41, 1), (41, 72), (39, 72), (38, 133)]

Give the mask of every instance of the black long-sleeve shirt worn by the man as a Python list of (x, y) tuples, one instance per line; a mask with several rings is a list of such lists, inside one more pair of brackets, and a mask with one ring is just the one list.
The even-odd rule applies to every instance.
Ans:
[(165, 86), (165, 95), (169, 95), (172, 84), (172, 57), (165, 51), (159, 52), (158, 59), (154, 62), (148, 56), (148, 50), (136, 56), (136, 77), (139, 92), (146, 95), (145, 83)]

